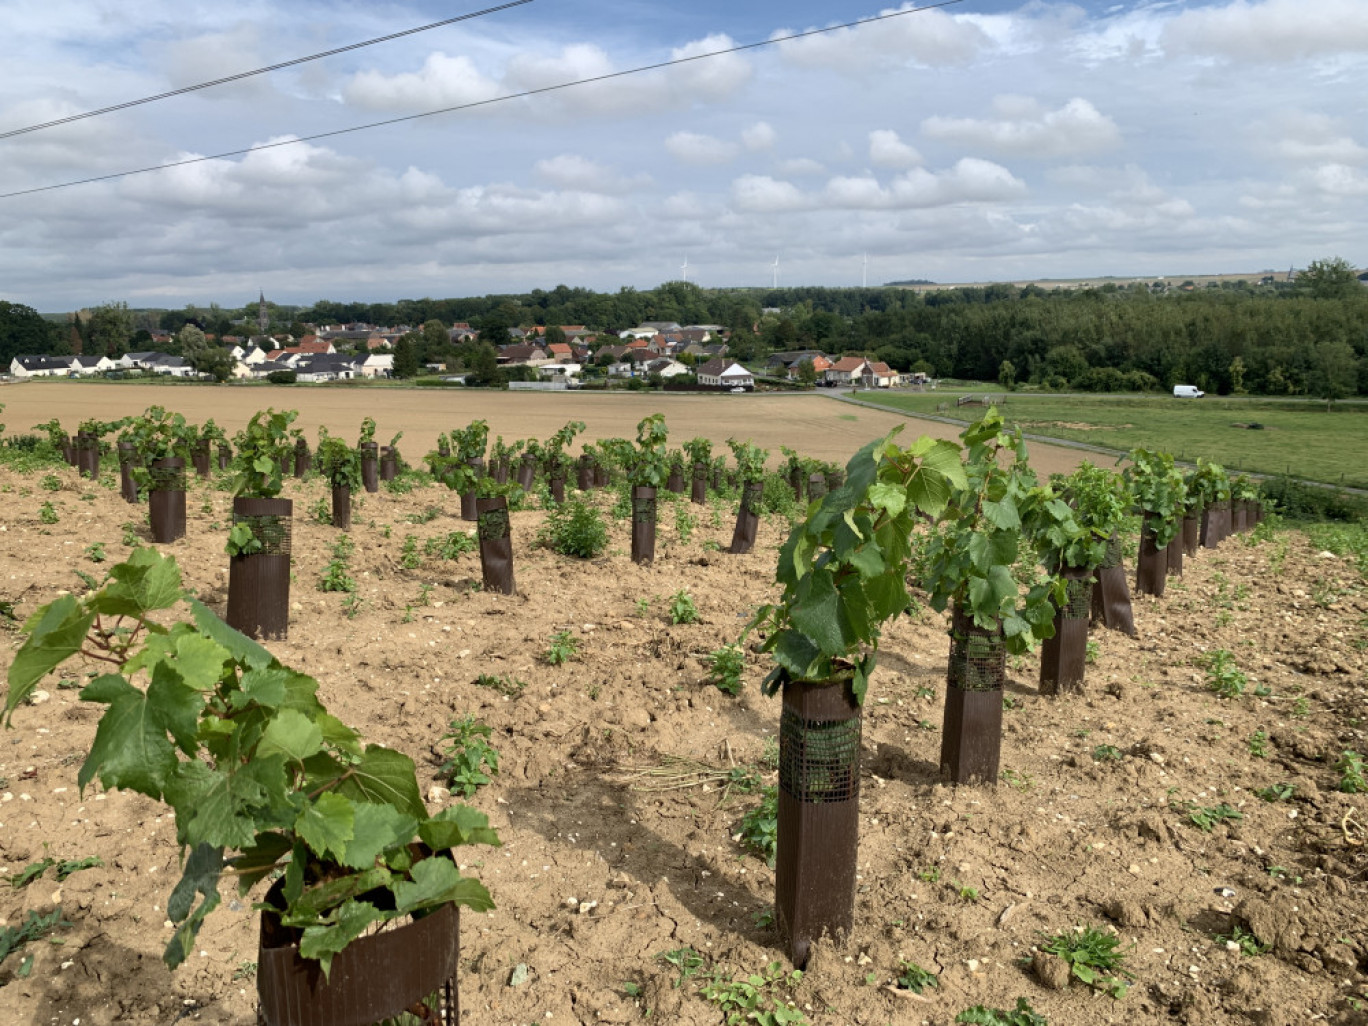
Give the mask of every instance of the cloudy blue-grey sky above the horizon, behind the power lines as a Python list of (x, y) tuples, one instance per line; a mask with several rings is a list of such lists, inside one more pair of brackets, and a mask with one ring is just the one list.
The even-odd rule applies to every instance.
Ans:
[[(0, 133), (495, 0), (5, 0)], [(0, 193), (906, 8), (532, 0), (0, 140)], [(1368, 264), (1368, 1), (963, 0), (596, 85), (0, 200), (41, 311)], [(867, 268), (866, 268), (867, 261)]]

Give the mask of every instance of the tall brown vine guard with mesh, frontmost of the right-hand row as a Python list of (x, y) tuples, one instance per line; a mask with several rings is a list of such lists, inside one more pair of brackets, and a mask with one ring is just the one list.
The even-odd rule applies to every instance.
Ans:
[(814, 941), (854, 925), (862, 715), (848, 677), (782, 688), (774, 918), (803, 969)]

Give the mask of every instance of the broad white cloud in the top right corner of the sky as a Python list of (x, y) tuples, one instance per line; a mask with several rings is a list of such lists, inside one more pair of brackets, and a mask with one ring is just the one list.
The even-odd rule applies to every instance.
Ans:
[(1363, 0), (1234, 0), (1179, 12), (1163, 30), (1170, 53), (1286, 64), (1368, 51)]

